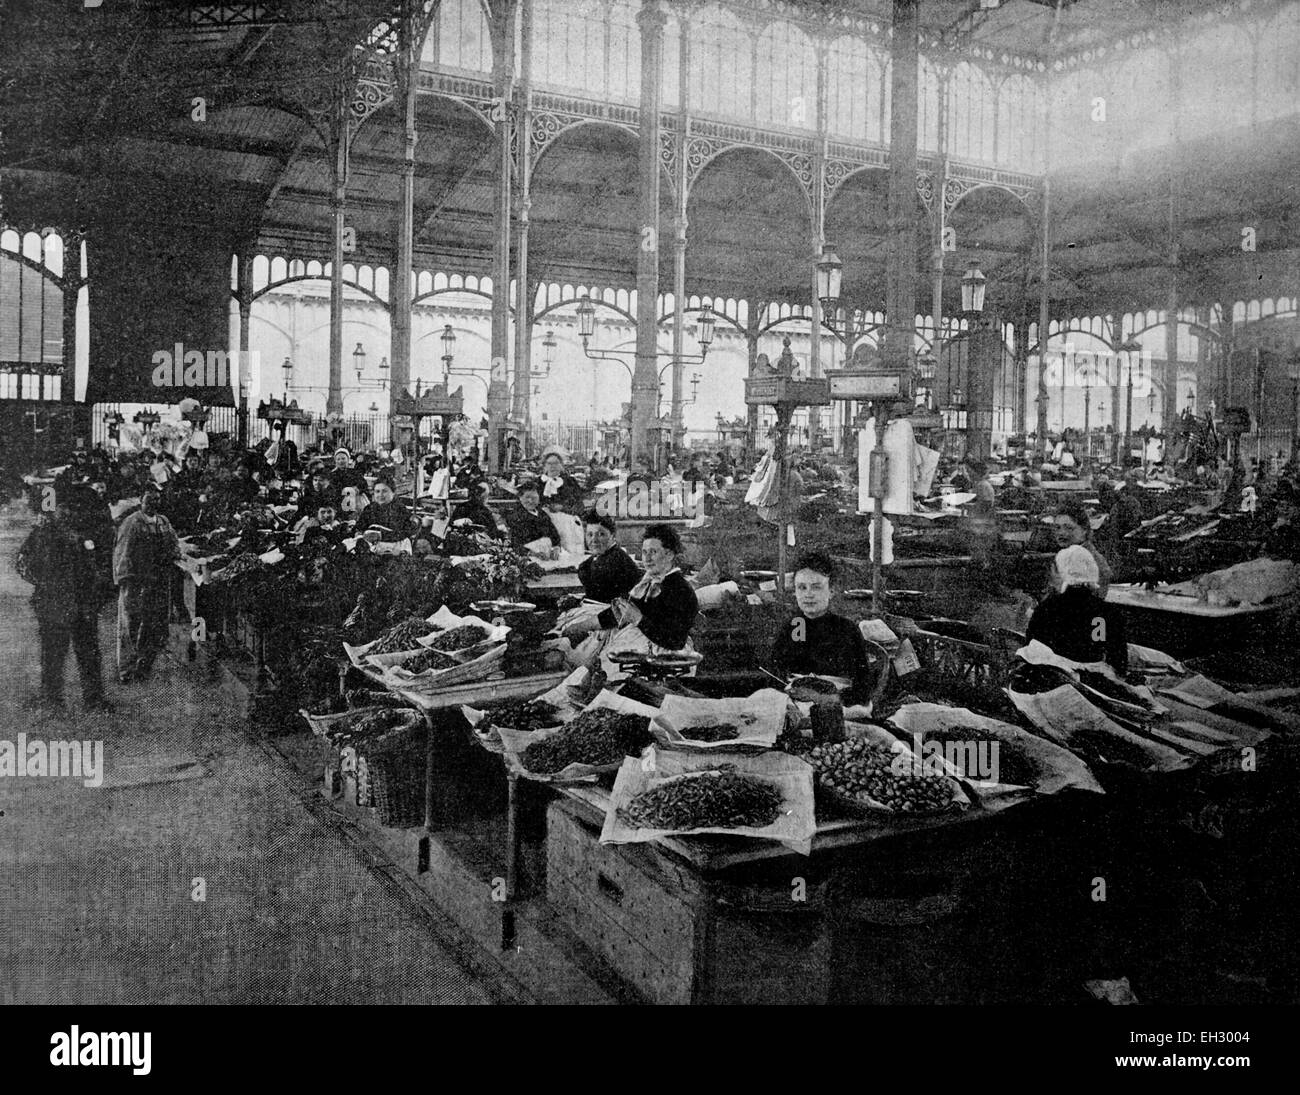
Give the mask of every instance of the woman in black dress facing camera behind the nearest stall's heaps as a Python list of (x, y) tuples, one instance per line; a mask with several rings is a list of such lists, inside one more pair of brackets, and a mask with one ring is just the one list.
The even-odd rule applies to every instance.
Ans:
[(864, 704), (874, 687), (867, 644), (853, 620), (831, 611), (835, 577), (835, 563), (820, 551), (794, 564), (797, 611), (776, 635), (772, 668), (780, 676), (842, 676), (852, 681), (844, 702)]

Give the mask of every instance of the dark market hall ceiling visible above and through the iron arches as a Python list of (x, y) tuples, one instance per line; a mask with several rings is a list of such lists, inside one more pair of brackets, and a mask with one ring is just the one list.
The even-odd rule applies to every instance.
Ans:
[[(221, 9), (186, 0), (103, 0), (98, 8), (84, 1), (6, 0), (0, 14), (0, 218), (92, 231), (98, 218), (134, 202), (196, 231), (222, 231), (233, 248), (252, 239), (259, 251), (326, 259), (330, 153), (317, 130), (281, 104), (325, 95), (341, 59), (386, 26), (395, 0), (263, 0)], [(991, 69), (1050, 73), (1053, 61), (1069, 65), (1225, 7), (1005, 0), (985, 10), (979, 0), (922, 0), (922, 51), (950, 49)], [(1280, 7), (1254, 4), (1256, 10)], [(875, 27), (881, 43), (889, 9), (889, 0), (731, 5), (751, 21), (810, 26), (840, 20), (868, 38)], [(213, 10), (243, 10), (256, 21), (216, 26)], [(208, 21), (194, 13), (209, 13)], [(195, 96), (207, 103), (203, 124), (191, 120)], [(490, 274), (498, 169), (490, 125), (467, 103), (425, 88), (417, 129), (416, 265)], [(391, 261), (402, 147), (391, 107), (361, 126), (352, 143), (347, 221), (360, 241), (359, 263)], [(1170, 177), (1180, 179), (1184, 299), (1294, 293), (1297, 151), (1292, 117), (1270, 121), (1266, 137), (1261, 127), (1239, 127), (1183, 142), (1176, 153), (1154, 150), (1124, 161), (1121, 172), (1101, 161), (1053, 172), (1053, 311), (1164, 306)], [(534, 274), (634, 284), (636, 156), (634, 134), (616, 125), (581, 125), (546, 148), (532, 177)], [(852, 174), (827, 204), (827, 238), (845, 261), (845, 298), (876, 308), (884, 302), (884, 179), (879, 169)], [(672, 187), (660, 191), (668, 234)], [(959, 246), (946, 264), (948, 308), (967, 260), (991, 277), (991, 300), (1036, 298), (1036, 194), (982, 189), (953, 208)], [(688, 220), (690, 291), (807, 298), (807, 203), (772, 155), (757, 148), (719, 155), (693, 181)], [(1258, 230), (1260, 243), (1243, 257), (1235, 244), (1247, 225)], [(928, 230), (918, 222), (919, 286), (927, 284)], [(660, 284), (668, 286), (671, 248), (660, 254)], [(924, 289), (919, 299), (928, 302)]]

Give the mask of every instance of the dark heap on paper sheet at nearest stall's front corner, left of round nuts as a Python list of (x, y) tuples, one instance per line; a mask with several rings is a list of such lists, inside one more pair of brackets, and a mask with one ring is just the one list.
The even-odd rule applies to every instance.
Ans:
[(619, 817), (634, 828), (764, 828), (781, 802), (772, 784), (722, 767), (666, 779), (634, 795)]

